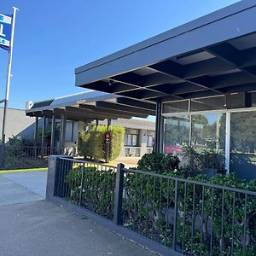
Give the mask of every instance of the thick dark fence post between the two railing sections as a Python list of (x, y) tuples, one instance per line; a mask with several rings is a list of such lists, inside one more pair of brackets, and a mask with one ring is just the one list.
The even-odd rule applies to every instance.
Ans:
[(125, 166), (123, 164), (119, 164), (117, 166), (116, 179), (115, 179), (113, 223), (116, 225), (123, 224), (122, 202), (123, 202), (124, 168)]

